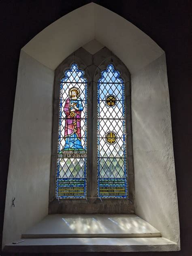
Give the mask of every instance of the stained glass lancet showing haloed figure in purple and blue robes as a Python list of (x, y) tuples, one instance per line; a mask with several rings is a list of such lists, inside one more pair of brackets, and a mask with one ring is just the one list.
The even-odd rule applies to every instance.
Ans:
[(60, 81), (57, 198), (85, 198), (87, 79), (73, 63)]

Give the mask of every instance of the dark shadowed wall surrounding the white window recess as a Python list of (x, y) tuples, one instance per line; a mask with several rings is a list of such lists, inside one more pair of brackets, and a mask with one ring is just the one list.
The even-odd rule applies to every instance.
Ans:
[[(192, 137), (190, 14), (192, 2), (190, 0), (0, 1), (0, 247), (20, 49), (52, 22), (89, 2), (100, 4), (132, 22), (150, 36), (166, 53), (181, 229), (181, 251), (137, 252), (129, 253), (129, 255), (190, 256), (192, 255), (192, 163), (190, 156)], [(92, 254), (117, 255), (117, 253)], [(121, 255), (123, 254), (126, 255), (125, 253)], [(79, 253), (78, 255), (90, 254)]]

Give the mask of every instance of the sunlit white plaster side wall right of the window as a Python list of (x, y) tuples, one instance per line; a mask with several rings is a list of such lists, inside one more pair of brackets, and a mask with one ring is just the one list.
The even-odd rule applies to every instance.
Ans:
[(132, 75), (135, 212), (179, 244), (171, 113), (163, 54)]

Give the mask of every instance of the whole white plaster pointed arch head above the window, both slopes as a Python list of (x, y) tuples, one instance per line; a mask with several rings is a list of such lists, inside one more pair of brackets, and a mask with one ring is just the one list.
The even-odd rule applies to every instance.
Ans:
[(55, 70), (68, 55), (93, 39), (113, 51), (130, 73), (164, 53), (139, 28), (95, 3), (86, 4), (53, 22), (32, 38), (23, 51)]

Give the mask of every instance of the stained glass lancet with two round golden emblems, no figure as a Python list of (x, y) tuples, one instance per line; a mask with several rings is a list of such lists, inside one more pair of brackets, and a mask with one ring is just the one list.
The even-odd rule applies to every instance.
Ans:
[(98, 80), (98, 197), (126, 198), (124, 81), (113, 64)]

